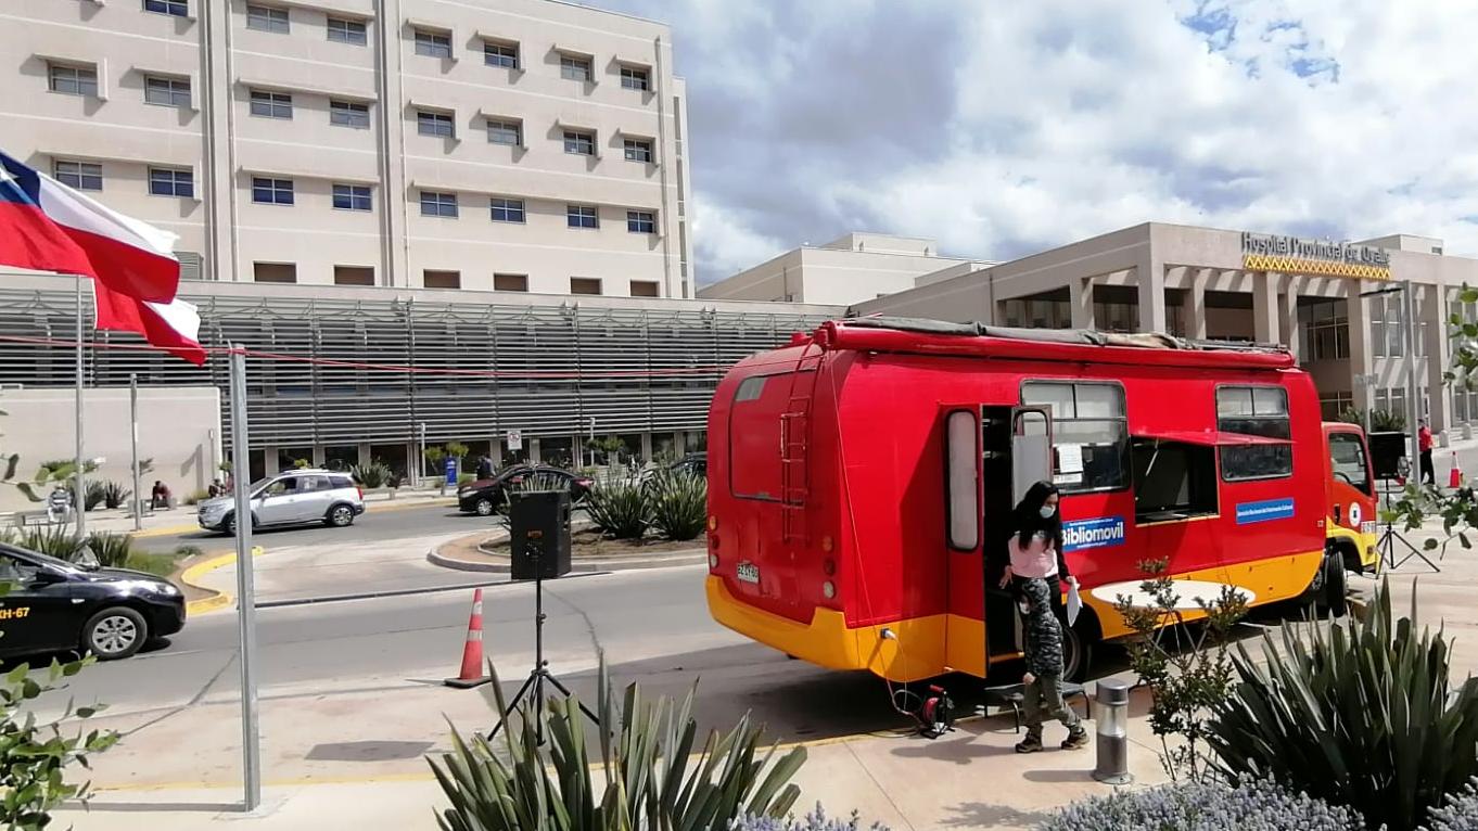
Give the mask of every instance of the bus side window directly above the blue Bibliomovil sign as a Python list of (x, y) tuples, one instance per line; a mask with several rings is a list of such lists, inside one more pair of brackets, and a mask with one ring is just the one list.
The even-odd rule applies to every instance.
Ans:
[[(1129, 421), (1122, 386), (1026, 381), (1021, 404), (1052, 408), (1052, 481), (1064, 492), (1107, 491), (1126, 484)], [(1079, 460), (1080, 470), (1073, 470)]]

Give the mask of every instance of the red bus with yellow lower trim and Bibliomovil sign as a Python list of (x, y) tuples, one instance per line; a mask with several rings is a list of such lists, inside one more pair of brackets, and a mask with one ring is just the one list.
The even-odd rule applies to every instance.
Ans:
[(1069, 677), (1128, 633), (1092, 590), (1138, 584), (1142, 560), (1253, 605), (1338, 608), (1345, 568), (1375, 565), (1364, 436), (1323, 424), (1276, 347), (834, 321), (733, 367), (708, 436), (714, 620), (837, 670), (984, 677), (1017, 658), (987, 563), (1039, 479), (1061, 488), (1082, 584)]

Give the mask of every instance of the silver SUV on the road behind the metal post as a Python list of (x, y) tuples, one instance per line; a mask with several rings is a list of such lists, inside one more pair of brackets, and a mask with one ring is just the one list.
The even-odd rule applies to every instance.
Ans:
[[(251, 528), (322, 522), (344, 528), (365, 512), (364, 491), (347, 473), (284, 470), (251, 484)], [(236, 498), (200, 503), (198, 522), (207, 531), (236, 532)]]

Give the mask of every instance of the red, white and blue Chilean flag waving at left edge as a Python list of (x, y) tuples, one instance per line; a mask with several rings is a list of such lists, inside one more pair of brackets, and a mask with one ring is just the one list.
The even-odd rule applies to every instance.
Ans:
[(174, 240), (0, 152), (0, 263), (90, 277), (99, 330), (142, 334), (201, 365), (200, 315), (174, 297)]

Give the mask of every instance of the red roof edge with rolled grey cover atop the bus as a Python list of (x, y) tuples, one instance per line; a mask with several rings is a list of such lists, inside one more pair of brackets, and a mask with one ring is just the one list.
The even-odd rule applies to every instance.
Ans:
[(1240, 370), (1287, 370), (1295, 365), (1293, 355), (1286, 347), (1274, 345), (1188, 340), (1169, 334), (1008, 328), (921, 318), (875, 316), (828, 321), (811, 334), (810, 340), (826, 350), (907, 355)]

